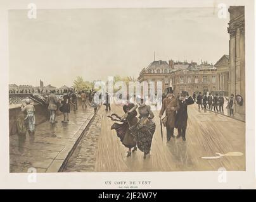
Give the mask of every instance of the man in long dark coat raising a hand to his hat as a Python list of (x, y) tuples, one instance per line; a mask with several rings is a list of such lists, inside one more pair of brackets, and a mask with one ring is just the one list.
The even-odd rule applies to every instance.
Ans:
[(178, 129), (177, 138), (182, 137), (186, 141), (186, 128), (188, 122), (188, 105), (194, 104), (193, 98), (188, 97), (188, 92), (182, 92), (179, 97), (179, 110), (176, 115), (176, 128)]

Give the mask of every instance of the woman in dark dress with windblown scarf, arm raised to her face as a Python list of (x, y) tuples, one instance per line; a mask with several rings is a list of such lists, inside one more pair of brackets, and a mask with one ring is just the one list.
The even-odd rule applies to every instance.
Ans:
[[(127, 157), (131, 157), (132, 152), (137, 150), (136, 141), (134, 140), (134, 136), (132, 136), (131, 131), (129, 130), (130, 127), (134, 126), (138, 122), (137, 116), (137, 109), (138, 105), (134, 104), (125, 104), (123, 110), (125, 112), (123, 117), (118, 117), (117, 114), (112, 114), (109, 116), (112, 121), (120, 121), (122, 124), (118, 124), (115, 122), (111, 129), (115, 129), (117, 132), (118, 138), (122, 144), (127, 147), (129, 150), (127, 152)], [(117, 117), (118, 119), (114, 119), (113, 117)], [(132, 150), (132, 148), (134, 148)], [(131, 151), (132, 150), (132, 151)]]

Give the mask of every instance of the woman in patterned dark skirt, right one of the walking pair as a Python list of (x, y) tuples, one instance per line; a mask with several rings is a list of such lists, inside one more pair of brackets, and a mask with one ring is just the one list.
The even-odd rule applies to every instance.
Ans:
[(132, 126), (131, 132), (136, 136), (137, 146), (139, 150), (144, 152), (144, 159), (146, 155), (150, 154), (153, 134), (155, 133), (155, 123), (152, 121), (154, 114), (149, 105), (143, 103), (139, 106), (139, 122), (136, 126)]

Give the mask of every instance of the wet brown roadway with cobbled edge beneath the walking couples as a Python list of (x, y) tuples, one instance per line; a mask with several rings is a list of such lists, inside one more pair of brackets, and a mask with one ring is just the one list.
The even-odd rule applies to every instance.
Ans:
[[(153, 121), (157, 129), (150, 156), (144, 160), (139, 150), (132, 153), (132, 157), (126, 157), (127, 148), (120, 143), (115, 131), (110, 130), (113, 121), (107, 116), (112, 113), (122, 115), (124, 112), (120, 105), (112, 105), (111, 112), (101, 107), (65, 172), (201, 171), (221, 167), (245, 170), (245, 122), (209, 110), (198, 111), (196, 104), (190, 105), (187, 141), (172, 138), (167, 143), (165, 128), (163, 140), (161, 138), (159, 112), (155, 111)], [(177, 135), (177, 129), (174, 133)]]

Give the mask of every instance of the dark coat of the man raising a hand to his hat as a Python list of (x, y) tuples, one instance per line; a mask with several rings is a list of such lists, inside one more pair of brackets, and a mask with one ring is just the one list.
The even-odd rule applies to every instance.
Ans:
[(182, 100), (179, 100), (178, 102), (179, 110), (177, 111), (175, 128), (186, 129), (188, 122), (188, 105), (194, 104), (194, 100), (189, 96), (184, 102), (182, 102)]

